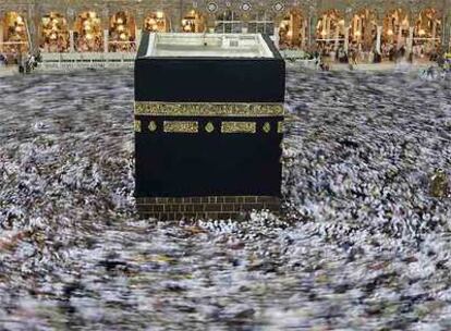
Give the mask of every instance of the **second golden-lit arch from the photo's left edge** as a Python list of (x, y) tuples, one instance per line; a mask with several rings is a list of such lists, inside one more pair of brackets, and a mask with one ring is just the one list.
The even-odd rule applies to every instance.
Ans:
[(59, 12), (49, 12), (40, 20), (39, 48), (45, 52), (69, 51), (69, 26)]

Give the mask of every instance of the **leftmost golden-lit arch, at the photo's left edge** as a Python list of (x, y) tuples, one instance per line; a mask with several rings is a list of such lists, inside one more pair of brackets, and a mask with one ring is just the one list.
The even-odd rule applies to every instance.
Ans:
[(26, 19), (19, 12), (7, 12), (3, 17), (3, 44), (5, 53), (21, 53), (29, 49)]

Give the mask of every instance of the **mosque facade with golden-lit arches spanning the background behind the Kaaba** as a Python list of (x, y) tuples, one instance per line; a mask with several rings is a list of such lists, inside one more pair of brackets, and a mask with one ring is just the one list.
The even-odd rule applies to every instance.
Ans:
[(282, 48), (449, 49), (451, 0), (0, 0), (0, 51), (135, 51), (143, 30), (264, 33)]

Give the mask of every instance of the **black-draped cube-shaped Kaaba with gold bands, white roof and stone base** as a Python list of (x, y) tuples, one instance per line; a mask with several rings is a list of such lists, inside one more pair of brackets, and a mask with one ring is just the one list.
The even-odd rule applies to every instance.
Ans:
[(268, 36), (144, 33), (134, 74), (139, 214), (280, 211), (285, 63)]

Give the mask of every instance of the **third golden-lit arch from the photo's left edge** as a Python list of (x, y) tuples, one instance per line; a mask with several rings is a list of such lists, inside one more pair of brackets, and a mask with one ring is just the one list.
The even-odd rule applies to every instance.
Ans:
[(103, 32), (100, 17), (94, 11), (86, 11), (75, 20), (75, 49), (77, 51), (103, 51)]

